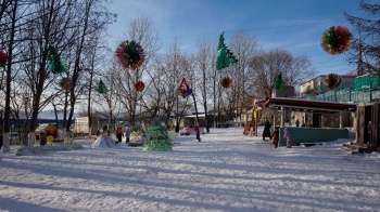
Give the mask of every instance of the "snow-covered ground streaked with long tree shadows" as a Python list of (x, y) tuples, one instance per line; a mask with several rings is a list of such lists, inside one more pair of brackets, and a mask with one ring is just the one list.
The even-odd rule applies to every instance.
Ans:
[(274, 148), (242, 129), (142, 147), (0, 154), (0, 211), (378, 211), (379, 154), (351, 154), (339, 140)]

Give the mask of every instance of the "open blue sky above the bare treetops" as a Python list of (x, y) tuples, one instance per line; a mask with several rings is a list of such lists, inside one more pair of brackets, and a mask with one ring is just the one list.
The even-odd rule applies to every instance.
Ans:
[(225, 31), (228, 44), (237, 31), (244, 30), (264, 51), (281, 49), (295, 56), (309, 56), (318, 75), (356, 69), (347, 64), (345, 54), (327, 54), (320, 38), (329, 27), (339, 25), (357, 37), (343, 13), (366, 15), (357, 0), (114, 0), (109, 9), (118, 14), (109, 29), (113, 48), (127, 39), (128, 21), (144, 16), (157, 29), (163, 51), (174, 38), (183, 51), (192, 51), (200, 37), (217, 43)]

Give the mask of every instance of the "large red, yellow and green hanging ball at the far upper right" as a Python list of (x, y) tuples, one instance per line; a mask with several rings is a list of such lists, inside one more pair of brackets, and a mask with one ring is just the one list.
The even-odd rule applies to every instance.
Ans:
[(349, 49), (352, 42), (352, 34), (343, 26), (330, 27), (325, 31), (320, 45), (329, 54), (341, 54)]

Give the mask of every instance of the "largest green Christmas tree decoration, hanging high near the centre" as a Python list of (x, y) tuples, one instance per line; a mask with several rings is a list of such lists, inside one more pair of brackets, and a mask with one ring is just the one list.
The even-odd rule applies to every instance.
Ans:
[(232, 52), (225, 44), (224, 32), (219, 37), (218, 53), (216, 57), (216, 69), (220, 70), (229, 67), (230, 64), (238, 63), (238, 59), (233, 56)]

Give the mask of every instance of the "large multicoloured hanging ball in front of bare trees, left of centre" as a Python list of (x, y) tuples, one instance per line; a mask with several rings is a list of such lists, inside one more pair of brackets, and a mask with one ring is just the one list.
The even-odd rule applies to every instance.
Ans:
[(126, 40), (117, 47), (115, 56), (124, 69), (136, 70), (142, 65), (145, 53), (139, 43)]

